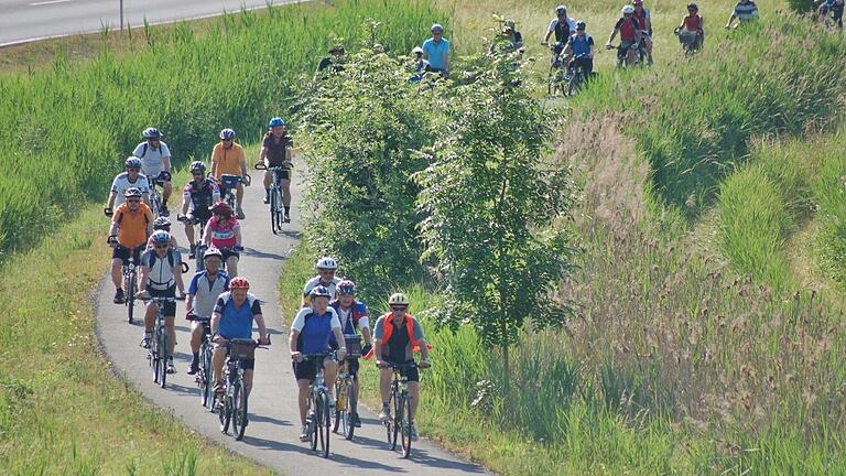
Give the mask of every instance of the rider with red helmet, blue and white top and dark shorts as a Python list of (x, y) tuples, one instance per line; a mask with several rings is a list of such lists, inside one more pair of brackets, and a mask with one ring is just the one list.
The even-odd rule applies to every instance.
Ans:
[[(259, 344), (269, 345), (270, 335), (264, 326), (259, 300), (250, 292), (247, 278), (235, 277), (229, 281), (229, 291), (217, 298), (217, 304), (212, 314), (212, 335), (215, 349), (212, 354), (212, 368), (215, 376), (215, 393), (223, 393), (224, 360), (229, 351), (227, 342), (231, 338), (251, 338), (252, 323), (259, 326)], [(247, 396), (252, 390), (252, 371), (256, 360), (241, 360), (243, 366), (243, 382), (247, 385)]]

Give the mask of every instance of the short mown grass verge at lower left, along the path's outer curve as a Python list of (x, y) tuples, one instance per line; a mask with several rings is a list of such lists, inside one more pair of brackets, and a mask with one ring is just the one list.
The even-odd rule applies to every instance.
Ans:
[(0, 274), (3, 474), (269, 474), (207, 443), (115, 378), (89, 293), (110, 261), (91, 206)]

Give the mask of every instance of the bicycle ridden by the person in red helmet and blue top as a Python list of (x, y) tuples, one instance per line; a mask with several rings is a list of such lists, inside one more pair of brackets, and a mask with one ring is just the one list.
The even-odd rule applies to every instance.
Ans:
[(232, 426), (236, 441), (243, 439), (247, 430), (247, 383), (243, 381), (242, 360), (252, 360), (257, 348), (267, 348), (249, 338), (229, 339), (226, 344), (229, 355), (226, 358), (226, 387), (219, 399), (215, 400), (213, 411), (217, 409), (220, 420), (220, 432), (227, 433)]

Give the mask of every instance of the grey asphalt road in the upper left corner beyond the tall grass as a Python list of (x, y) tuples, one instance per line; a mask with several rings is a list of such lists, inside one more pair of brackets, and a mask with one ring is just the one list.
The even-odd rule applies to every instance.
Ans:
[[(273, 4), (296, 0), (273, 0)], [(265, 8), (265, 0), (123, 0), (123, 24), (151, 24)], [(0, 0), (0, 46), (120, 29), (120, 0)]]

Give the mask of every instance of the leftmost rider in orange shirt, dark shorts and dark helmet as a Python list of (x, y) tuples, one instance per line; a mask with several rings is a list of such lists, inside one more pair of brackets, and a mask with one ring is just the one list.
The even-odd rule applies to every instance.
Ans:
[[(123, 202), (111, 217), (109, 244), (115, 248), (111, 252), (111, 282), (115, 283), (115, 304), (123, 304), (122, 267), (129, 264), (129, 255), (135, 263), (141, 261), (141, 251), (147, 237), (153, 232), (153, 212), (147, 204), (141, 203), (141, 191), (131, 187), (126, 193)], [(134, 290), (127, 290), (134, 292)]]

